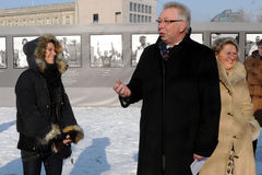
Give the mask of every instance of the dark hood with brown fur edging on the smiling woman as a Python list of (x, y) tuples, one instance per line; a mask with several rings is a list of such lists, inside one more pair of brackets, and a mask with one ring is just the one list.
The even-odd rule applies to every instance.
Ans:
[(49, 42), (53, 43), (55, 45), (55, 49), (57, 52), (55, 60), (56, 60), (56, 63), (58, 65), (59, 72), (63, 73), (68, 68), (67, 60), (63, 58), (62, 47), (60, 43), (51, 34), (43, 35), (24, 45), (23, 50), (24, 50), (24, 54), (26, 55), (28, 66), (31, 69), (35, 71), (44, 72), (44, 70), (47, 67), (47, 63), (45, 61), (45, 51), (46, 51), (46, 46)]

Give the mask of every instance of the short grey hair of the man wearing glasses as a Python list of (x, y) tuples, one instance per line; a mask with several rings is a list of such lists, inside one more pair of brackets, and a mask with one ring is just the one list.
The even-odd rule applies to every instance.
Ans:
[(191, 22), (191, 14), (190, 10), (188, 7), (186, 7), (182, 3), (170, 1), (164, 4), (164, 10), (175, 8), (178, 9), (178, 20), (184, 20), (188, 25), (187, 25), (187, 33), (189, 32), (190, 28), (190, 22)]

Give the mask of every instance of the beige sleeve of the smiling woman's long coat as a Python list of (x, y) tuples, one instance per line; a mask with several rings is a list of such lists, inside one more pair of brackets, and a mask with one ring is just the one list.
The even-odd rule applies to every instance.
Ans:
[(245, 92), (241, 100), (242, 100), (242, 103), (241, 103), (242, 116), (247, 119), (250, 126), (252, 140), (255, 140), (260, 136), (260, 125), (258, 120), (253, 117), (253, 104), (251, 103), (251, 97), (250, 97), (248, 84), (246, 81), (245, 81)]

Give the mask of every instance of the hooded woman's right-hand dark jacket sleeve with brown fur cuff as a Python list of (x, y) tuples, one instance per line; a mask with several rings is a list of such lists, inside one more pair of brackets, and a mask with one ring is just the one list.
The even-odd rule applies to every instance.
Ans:
[(64, 89), (63, 89), (63, 102), (61, 105), (61, 115), (63, 126), (62, 132), (69, 133), (72, 141), (74, 143), (78, 143), (80, 140), (84, 138), (84, 131), (76, 122), (68, 94), (64, 92)]

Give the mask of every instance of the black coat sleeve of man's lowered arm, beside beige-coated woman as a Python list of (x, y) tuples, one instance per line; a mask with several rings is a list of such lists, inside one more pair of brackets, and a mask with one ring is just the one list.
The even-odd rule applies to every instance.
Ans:
[(203, 54), (205, 57), (200, 61), (200, 119), (194, 140), (194, 153), (210, 156), (218, 142), (221, 93), (215, 56), (211, 50), (205, 51)]

